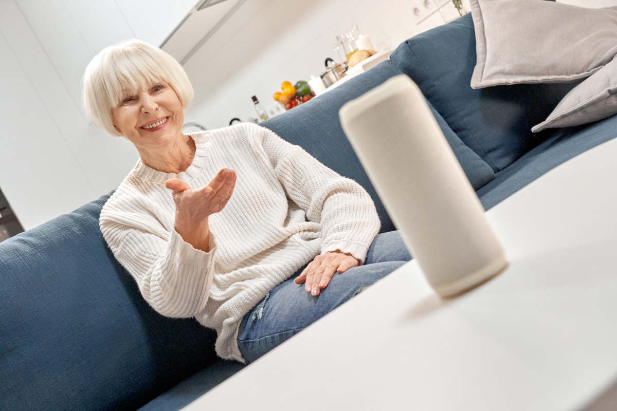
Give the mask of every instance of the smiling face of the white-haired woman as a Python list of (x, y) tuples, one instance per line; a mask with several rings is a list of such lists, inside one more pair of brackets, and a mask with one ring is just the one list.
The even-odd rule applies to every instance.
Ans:
[(155, 149), (173, 142), (184, 123), (182, 104), (167, 83), (154, 83), (137, 94), (124, 95), (112, 108), (112, 121), (136, 147)]

